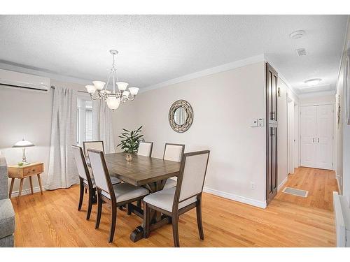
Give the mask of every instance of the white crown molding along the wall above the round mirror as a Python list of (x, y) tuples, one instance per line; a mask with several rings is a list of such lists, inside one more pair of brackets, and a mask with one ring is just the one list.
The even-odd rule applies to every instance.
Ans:
[(175, 84), (178, 84), (180, 82), (186, 82), (186, 81), (193, 80), (193, 79), (196, 79), (196, 78), (202, 78), (204, 76), (213, 75), (215, 73), (221, 73), (221, 72), (224, 72), (224, 71), (229, 71), (229, 70), (232, 70), (232, 69), (235, 69), (235, 68), (239, 68), (239, 67), (242, 67), (242, 66), (247, 66), (249, 64), (255, 64), (255, 63), (258, 63), (260, 61), (265, 61), (264, 54), (259, 54), (259, 55), (256, 55), (254, 57), (248, 57), (246, 59), (233, 61), (231, 63), (223, 64), (221, 66), (215, 66), (215, 67), (207, 68), (207, 69), (204, 69), (202, 71), (197, 71), (195, 73), (190, 73), (188, 75), (183, 75), (183, 76), (181, 76), (179, 78), (174, 78), (174, 79), (171, 79), (171, 80), (167, 80), (165, 82), (160, 82), (160, 83), (158, 83), (156, 85), (150, 85), (148, 87), (141, 88), (140, 89), (140, 93), (147, 92), (147, 91), (150, 91), (150, 90), (153, 90), (153, 89), (167, 87), (169, 85), (175, 85)]

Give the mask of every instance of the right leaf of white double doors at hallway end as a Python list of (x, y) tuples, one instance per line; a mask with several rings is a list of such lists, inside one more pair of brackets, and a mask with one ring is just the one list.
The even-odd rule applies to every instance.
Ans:
[(316, 167), (333, 168), (333, 106), (316, 108)]

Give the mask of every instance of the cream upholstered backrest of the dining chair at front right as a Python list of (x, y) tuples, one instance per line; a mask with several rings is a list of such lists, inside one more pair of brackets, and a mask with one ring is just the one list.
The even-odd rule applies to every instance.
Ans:
[(209, 154), (209, 150), (183, 154), (181, 169), (176, 184), (174, 205), (198, 194), (202, 194)]

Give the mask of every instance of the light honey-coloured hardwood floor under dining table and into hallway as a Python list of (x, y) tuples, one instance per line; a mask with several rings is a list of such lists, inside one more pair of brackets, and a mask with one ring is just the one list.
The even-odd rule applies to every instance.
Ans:
[[(321, 179), (316, 179), (321, 174)], [(332, 177), (333, 176), (333, 177)], [(313, 178), (310, 178), (313, 177)], [(204, 237), (197, 231), (195, 210), (179, 220), (181, 247), (334, 247), (335, 226), (331, 191), (334, 173), (298, 168), (288, 186), (302, 187), (311, 194), (310, 201), (297, 196), (278, 196), (264, 210), (211, 194), (203, 196)], [(305, 187), (306, 187), (305, 185)], [(22, 196), (16, 213), (16, 247), (172, 247), (172, 226), (152, 232), (150, 238), (133, 243), (130, 232), (141, 223), (135, 215), (118, 210), (116, 234), (108, 243), (110, 210), (104, 208), (101, 225), (94, 229), (96, 205), (89, 221), (85, 220), (87, 198), (78, 209), (78, 186), (45, 191), (44, 195)], [(87, 195), (85, 195), (87, 196)], [(318, 197), (321, 200), (318, 201)], [(326, 205), (328, 201), (328, 204)]]

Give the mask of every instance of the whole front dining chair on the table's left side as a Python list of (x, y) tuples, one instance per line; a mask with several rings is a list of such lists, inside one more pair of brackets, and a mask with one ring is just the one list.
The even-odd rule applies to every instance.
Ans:
[(112, 184), (109, 170), (107, 169), (104, 153), (100, 150), (87, 150), (90, 157), (90, 165), (94, 172), (94, 181), (97, 187), (97, 219), (95, 228), (99, 228), (102, 215), (102, 204), (111, 205), (111, 231), (109, 242), (113, 242), (114, 231), (116, 230), (117, 209), (123, 205), (142, 200), (149, 194), (144, 187), (135, 187), (132, 184), (120, 183)]

